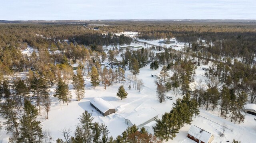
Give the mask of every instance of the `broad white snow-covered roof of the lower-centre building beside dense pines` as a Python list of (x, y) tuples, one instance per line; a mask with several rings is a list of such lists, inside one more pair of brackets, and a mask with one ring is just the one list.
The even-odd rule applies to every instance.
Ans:
[(150, 109), (140, 110), (139, 112), (136, 112), (130, 116), (127, 116), (124, 119), (128, 119), (132, 124), (139, 126), (158, 115), (159, 114), (158, 112), (156, 112), (156, 110), (150, 108)]

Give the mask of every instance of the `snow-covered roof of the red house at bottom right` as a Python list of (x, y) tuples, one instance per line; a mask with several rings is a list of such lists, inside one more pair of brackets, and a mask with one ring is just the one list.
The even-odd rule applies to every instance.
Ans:
[[(201, 133), (200, 133), (201, 132)], [(191, 125), (188, 134), (196, 137), (200, 141), (203, 141), (204, 143), (208, 143), (210, 140), (212, 134), (201, 129), (200, 127), (196, 127), (195, 125)]]

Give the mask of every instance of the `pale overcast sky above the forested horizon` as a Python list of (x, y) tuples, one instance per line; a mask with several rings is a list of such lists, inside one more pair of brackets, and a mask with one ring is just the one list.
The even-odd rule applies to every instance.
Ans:
[(0, 20), (251, 19), (256, 0), (0, 0)]

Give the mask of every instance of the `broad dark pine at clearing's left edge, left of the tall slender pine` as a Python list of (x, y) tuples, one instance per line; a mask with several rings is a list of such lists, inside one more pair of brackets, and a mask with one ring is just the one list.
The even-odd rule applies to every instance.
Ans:
[(68, 89), (68, 84), (66, 84), (61, 78), (58, 80), (58, 85), (53, 96), (58, 97), (60, 101), (62, 100), (63, 104), (66, 102), (68, 105), (68, 102), (70, 102), (71, 94)]

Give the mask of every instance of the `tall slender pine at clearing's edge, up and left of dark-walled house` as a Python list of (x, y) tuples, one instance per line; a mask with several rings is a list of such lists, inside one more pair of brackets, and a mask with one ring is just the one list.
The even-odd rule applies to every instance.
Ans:
[(76, 99), (80, 101), (80, 99), (84, 98), (84, 78), (80, 69), (77, 70), (77, 74), (73, 75), (72, 80), (72, 84), (76, 92)]

